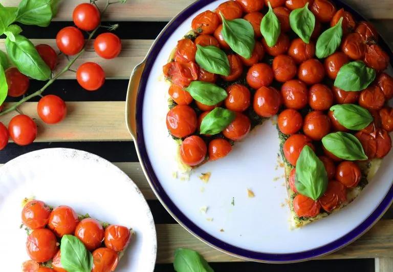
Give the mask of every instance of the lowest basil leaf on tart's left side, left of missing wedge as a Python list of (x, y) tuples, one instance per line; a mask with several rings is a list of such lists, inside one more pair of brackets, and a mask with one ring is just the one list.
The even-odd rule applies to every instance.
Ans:
[(234, 112), (223, 108), (215, 108), (202, 119), (201, 134), (214, 135), (220, 133), (234, 119)]

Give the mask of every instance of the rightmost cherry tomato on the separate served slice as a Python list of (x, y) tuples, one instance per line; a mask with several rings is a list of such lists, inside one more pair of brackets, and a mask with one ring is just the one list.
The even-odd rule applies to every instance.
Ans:
[(125, 226), (110, 225), (105, 228), (105, 246), (115, 250), (115, 252), (121, 252), (130, 240), (131, 232)]

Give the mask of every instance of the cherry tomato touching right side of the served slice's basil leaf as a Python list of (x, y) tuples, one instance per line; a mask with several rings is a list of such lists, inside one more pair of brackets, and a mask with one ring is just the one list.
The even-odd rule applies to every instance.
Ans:
[(111, 272), (115, 271), (119, 257), (115, 250), (107, 247), (100, 247), (93, 252), (92, 272)]

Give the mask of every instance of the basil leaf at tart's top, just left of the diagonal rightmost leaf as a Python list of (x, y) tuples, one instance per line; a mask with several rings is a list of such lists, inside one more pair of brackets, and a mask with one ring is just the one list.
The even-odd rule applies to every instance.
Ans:
[(315, 16), (309, 10), (308, 2), (304, 7), (291, 11), (289, 14), (289, 23), (292, 30), (304, 41), (304, 43), (310, 43), (310, 38), (315, 27)]

